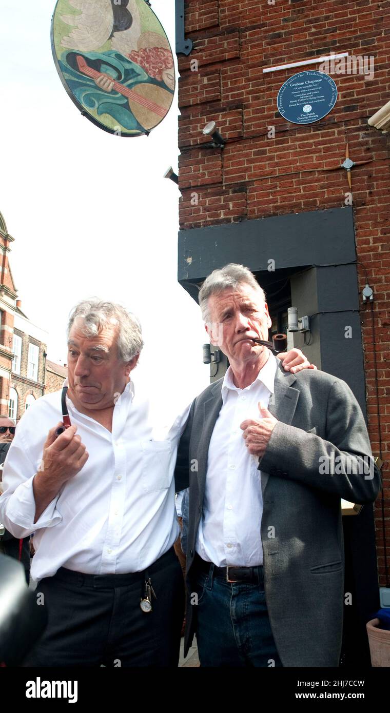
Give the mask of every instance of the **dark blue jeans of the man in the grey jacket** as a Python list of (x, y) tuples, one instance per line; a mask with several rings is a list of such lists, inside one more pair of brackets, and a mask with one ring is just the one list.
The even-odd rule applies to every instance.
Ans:
[[(281, 667), (265, 601), (262, 567), (257, 583), (228, 583), (220, 575), (197, 573), (193, 593), (197, 650), (204, 667)], [(193, 595), (192, 593), (192, 595)]]

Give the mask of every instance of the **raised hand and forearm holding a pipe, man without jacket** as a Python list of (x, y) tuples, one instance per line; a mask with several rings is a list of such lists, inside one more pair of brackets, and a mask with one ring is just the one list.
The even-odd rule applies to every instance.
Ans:
[(41, 517), (47, 506), (60, 491), (63, 483), (77, 475), (88, 461), (86, 446), (76, 435), (76, 426), (70, 426), (56, 438), (61, 422), (48, 432), (43, 446), (42, 464), (33, 481), (36, 503), (35, 520)]

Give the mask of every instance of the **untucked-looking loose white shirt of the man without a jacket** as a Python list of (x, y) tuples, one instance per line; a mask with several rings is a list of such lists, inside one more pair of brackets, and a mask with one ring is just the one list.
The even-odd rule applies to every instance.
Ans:
[(68, 397), (66, 403), (88, 461), (34, 523), (33, 480), (48, 431), (61, 421), (61, 391), (38, 399), (9, 448), (0, 521), (17, 538), (36, 533), (34, 580), (60, 567), (96, 575), (142, 571), (172, 547), (180, 531), (173, 472), (183, 418), (165, 440), (153, 440), (148, 402), (132, 381), (114, 407), (112, 433), (77, 411)]

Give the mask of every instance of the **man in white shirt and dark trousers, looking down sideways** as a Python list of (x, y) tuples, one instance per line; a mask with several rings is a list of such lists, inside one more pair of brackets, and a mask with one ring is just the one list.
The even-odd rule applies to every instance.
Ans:
[(175, 443), (153, 440), (134, 388), (143, 339), (123, 307), (73, 309), (68, 379), (21, 419), (0, 521), (35, 532), (31, 575), (48, 626), (27, 666), (177, 666), (183, 574)]

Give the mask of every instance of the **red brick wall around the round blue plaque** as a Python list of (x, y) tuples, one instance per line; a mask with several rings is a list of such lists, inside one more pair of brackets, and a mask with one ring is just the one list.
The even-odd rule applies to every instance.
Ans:
[[(390, 140), (367, 119), (390, 98), (390, 1), (188, 0), (190, 56), (179, 57), (180, 228), (218, 225), (289, 212), (346, 205), (345, 157), (352, 169), (359, 288), (374, 289), (385, 515), (390, 541)], [(333, 75), (337, 103), (312, 125), (294, 125), (277, 111), (277, 93), (302, 66), (270, 74), (262, 68), (324, 53), (374, 57), (374, 78)], [(195, 71), (194, 71), (195, 70)], [(202, 148), (214, 119), (225, 149)], [(274, 138), (272, 130), (274, 127)], [(371, 309), (361, 312), (369, 433), (379, 453)], [(378, 564), (384, 583), (380, 498), (376, 503)]]

